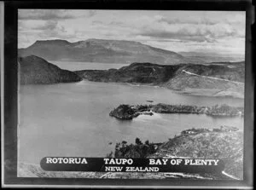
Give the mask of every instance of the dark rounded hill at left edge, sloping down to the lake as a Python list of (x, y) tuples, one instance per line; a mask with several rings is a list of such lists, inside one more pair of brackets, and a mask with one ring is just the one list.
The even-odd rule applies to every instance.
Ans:
[(46, 60), (30, 55), (19, 57), (20, 83), (69, 83), (80, 81), (74, 72), (62, 70)]

